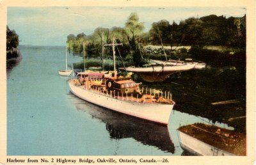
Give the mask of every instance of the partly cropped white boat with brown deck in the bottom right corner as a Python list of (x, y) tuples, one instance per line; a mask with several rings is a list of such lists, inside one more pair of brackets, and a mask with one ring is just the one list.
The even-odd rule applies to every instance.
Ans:
[(194, 123), (180, 127), (177, 132), (181, 148), (193, 155), (246, 155), (246, 135), (234, 130)]

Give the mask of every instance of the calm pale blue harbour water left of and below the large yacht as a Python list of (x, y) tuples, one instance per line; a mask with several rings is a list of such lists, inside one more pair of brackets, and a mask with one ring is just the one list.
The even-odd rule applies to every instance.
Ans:
[(20, 51), (23, 59), (7, 81), (8, 155), (182, 155), (176, 129), (203, 122), (173, 111), (163, 127), (84, 102), (58, 75), (65, 47)]

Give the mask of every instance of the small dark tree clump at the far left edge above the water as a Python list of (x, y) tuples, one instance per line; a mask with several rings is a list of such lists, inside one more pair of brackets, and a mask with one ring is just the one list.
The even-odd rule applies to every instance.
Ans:
[(6, 28), (6, 51), (13, 48), (17, 48), (19, 45), (19, 35), (13, 30), (11, 31), (9, 27)]

